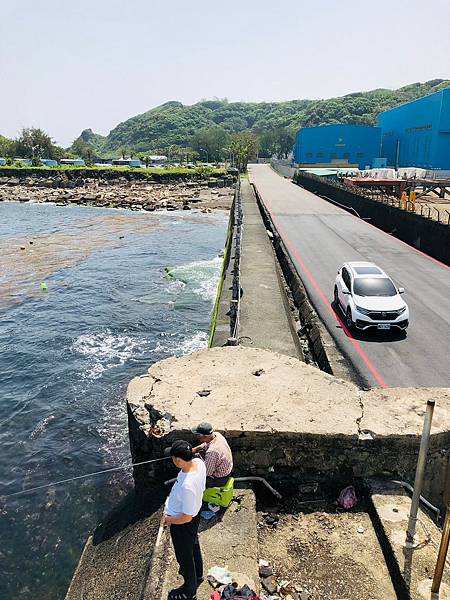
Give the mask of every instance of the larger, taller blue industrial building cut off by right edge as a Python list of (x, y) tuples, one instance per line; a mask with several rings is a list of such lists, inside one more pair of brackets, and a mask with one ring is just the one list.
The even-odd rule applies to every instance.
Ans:
[(450, 169), (450, 89), (380, 113), (378, 125), (389, 166)]

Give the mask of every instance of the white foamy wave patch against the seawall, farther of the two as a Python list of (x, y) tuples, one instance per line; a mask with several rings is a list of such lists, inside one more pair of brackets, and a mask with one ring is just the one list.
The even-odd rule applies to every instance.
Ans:
[[(186, 289), (203, 300), (213, 301), (216, 297), (222, 261), (220, 256), (216, 256), (210, 260), (199, 260), (177, 267), (168, 267), (168, 276), (172, 278), (174, 284), (178, 285), (178, 289), (172, 287), (171, 291), (177, 292)], [(184, 284), (185, 288), (180, 284)]]

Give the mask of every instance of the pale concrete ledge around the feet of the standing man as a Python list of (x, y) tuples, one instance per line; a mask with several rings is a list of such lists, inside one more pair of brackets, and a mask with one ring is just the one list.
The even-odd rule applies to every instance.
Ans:
[[(178, 575), (178, 564), (175, 560), (168, 530), (164, 532), (163, 572), (152, 569), (150, 580), (161, 577), (162, 589), (155, 595), (155, 582), (147, 587), (144, 600), (167, 600), (168, 592), (182, 584)], [(209, 600), (213, 591), (206, 581), (211, 567), (227, 567), (239, 583), (247, 583), (258, 592), (258, 538), (255, 495), (251, 490), (235, 490), (234, 500), (230, 507), (218, 518), (211, 521), (202, 519), (199, 530), (202, 549), (205, 582), (197, 591), (198, 600)], [(161, 562), (161, 561), (160, 561)], [(153, 594), (153, 595), (151, 595)]]

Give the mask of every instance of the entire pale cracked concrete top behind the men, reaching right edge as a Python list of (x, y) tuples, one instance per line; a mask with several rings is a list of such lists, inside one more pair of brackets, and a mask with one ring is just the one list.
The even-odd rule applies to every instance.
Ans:
[[(210, 393), (200, 396), (204, 389)], [(449, 388), (364, 392), (295, 358), (244, 347), (161, 361), (128, 387), (131, 411), (147, 435), (155, 427), (166, 434), (209, 420), (230, 433), (300, 432), (363, 440), (418, 436), (430, 398), (436, 400), (432, 433), (448, 431)]]

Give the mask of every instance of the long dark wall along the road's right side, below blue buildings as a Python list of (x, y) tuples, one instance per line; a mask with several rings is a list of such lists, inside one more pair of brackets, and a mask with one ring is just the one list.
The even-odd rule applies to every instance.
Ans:
[(315, 194), (353, 208), (362, 218), (400, 240), (450, 265), (450, 227), (352, 192), (339, 184), (299, 172), (296, 183)]

